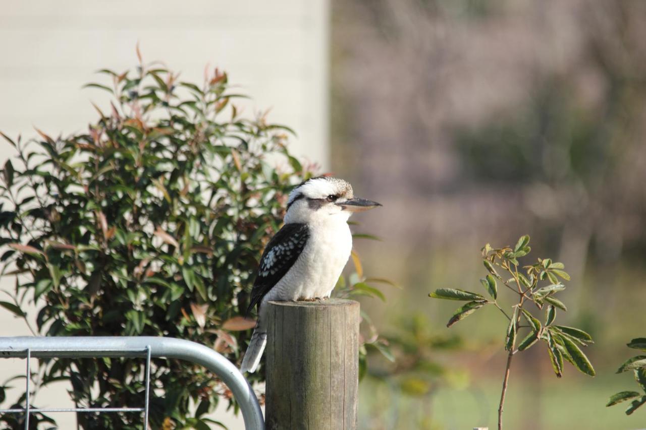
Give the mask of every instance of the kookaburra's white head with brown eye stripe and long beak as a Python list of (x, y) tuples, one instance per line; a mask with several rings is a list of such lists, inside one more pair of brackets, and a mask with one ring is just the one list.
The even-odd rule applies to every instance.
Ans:
[[(329, 176), (307, 179), (287, 200), (286, 223), (311, 223), (342, 219), (351, 214), (381, 206), (376, 201), (357, 198), (348, 181)], [(333, 218), (330, 218), (333, 217)]]

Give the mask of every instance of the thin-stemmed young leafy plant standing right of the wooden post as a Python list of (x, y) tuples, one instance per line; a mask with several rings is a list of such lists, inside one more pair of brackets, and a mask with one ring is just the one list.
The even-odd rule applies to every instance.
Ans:
[[(579, 371), (594, 376), (594, 369), (581, 346), (592, 343), (588, 333), (574, 327), (557, 325), (557, 309), (567, 311), (565, 304), (556, 298), (556, 294), (565, 289), (559, 278), (569, 281), (570, 276), (564, 271), (563, 263), (550, 258), (539, 258), (536, 263), (520, 266), (519, 258), (530, 252), (529, 236), (522, 236), (515, 247), (494, 249), (488, 243), (482, 249), (483, 264), (489, 272), (480, 280), (489, 298), (477, 292), (459, 289), (437, 289), (429, 294), (432, 298), (444, 300), (463, 300), (465, 303), (455, 311), (447, 327), (463, 320), (478, 309), (494, 305), (508, 321), (505, 336), (507, 363), (503, 378), (503, 389), (498, 407), (498, 429), (503, 428), (503, 406), (509, 380), (512, 359), (517, 353), (525, 351), (539, 341), (545, 342), (547, 354), (557, 377), (563, 375), (563, 360), (570, 362)], [(510, 276), (508, 278), (508, 276)], [(510, 291), (515, 304), (505, 311), (499, 303), (499, 286)], [(537, 309), (545, 309), (544, 322), (536, 318), (527, 309), (534, 303)]]

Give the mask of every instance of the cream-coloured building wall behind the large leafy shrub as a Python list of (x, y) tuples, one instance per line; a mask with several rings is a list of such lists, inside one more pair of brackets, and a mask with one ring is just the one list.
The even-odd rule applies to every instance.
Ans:
[[(185, 80), (201, 82), (207, 64), (226, 70), (254, 97), (247, 112), (271, 108), (269, 119), (297, 132), (293, 151), (328, 166), (327, 0), (5, 2), (0, 130), (24, 138), (34, 126), (50, 135), (83, 130), (96, 116), (90, 101), (107, 99), (81, 86), (100, 79), (99, 68), (136, 65), (138, 41), (144, 61), (161, 59)], [(11, 153), (0, 141), (1, 165)], [(11, 288), (0, 280), (0, 289)], [(25, 334), (25, 324), (0, 309), (0, 336)], [(0, 381), (24, 365), (1, 360)], [(39, 394), (37, 404), (69, 405), (65, 388)], [(74, 428), (72, 415), (56, 417), (61, 429)], [(224, 421), (242, 428), (239, 419)]]

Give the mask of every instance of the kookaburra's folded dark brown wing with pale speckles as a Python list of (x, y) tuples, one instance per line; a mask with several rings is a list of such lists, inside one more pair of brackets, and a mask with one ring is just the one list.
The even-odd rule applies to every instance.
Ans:
[(260, 258), (258, 276), (251, 290), (251, 302), (247, 313), (273, 288), (294, 265), (309, 239), (307, 224), (283, 225), (271, 238)]

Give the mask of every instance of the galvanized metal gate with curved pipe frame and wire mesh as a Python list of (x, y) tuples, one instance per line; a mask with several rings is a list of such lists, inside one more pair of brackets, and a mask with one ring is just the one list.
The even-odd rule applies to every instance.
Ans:
[[(175, 358), (202, 365), (216, 374), (229, 387), (238, 405), (240, 405), (245, 428), (251, 430), (264, 430), (265, 428), (260, 404), (258, 404), (256, 394), (253, 392), (249, 382), (233, 363), (213, 349), (199, 343), (153, 336), (0, 337), (0, 358), (27, 358), (27, 360), (30, 360), (30, 358), (101, 357), (147, 358), (145, 408), (123, 408), (124, 410), (145, 412), (147, 416), (150, 379), (150, 366), (148, 364), (150, 358)], [(27, 384), (28, 381), (29, 378), (27, 378)], [(29, 389), (27, 389), (27, 393), (29, 393)], [(63, 410), (29, 409), (27, 405), (26, 409), (19, 409), (16, 412), (26, 411), (55, 412)], [(68, 409), (67, 411), (90, 412), (89, 409), (82, 408)], [(101, 409), (101, 411), (109, 412), (107, 409)]]

